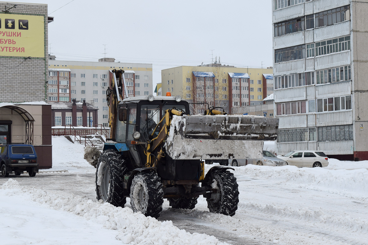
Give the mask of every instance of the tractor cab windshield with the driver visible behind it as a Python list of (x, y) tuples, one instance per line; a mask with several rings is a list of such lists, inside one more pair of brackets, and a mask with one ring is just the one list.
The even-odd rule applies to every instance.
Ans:
[[(153, 130), (160, 122), (160, 105), (142, 105), (141, 107), (141, 123), (139, 129), (144, 138), (152, 138)], [(153, 137), (157, 136), (158, 130), (155, 131)]]

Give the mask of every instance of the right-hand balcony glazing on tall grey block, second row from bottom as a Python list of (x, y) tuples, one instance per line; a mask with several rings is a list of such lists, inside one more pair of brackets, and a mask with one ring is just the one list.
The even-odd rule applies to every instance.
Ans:
[(317, 99), (317, 112), (351, 110), (351, 95)]

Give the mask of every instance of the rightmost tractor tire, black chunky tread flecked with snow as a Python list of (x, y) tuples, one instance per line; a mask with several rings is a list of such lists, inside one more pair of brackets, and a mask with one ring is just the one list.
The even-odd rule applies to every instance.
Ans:
[(212, 177), (211, 187), (215, 191), (206, 196), (209, 211), (234, 216), (239, 202), (238, 183), (234, 174), (215, 170)]

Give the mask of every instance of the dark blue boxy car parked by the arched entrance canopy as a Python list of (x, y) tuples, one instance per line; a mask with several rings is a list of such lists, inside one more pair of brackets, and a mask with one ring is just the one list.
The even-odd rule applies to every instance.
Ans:
[(24, 171), (35, 177), (38, 173), (35, 148), (29, 144), (0, 144), (0, 166), (3, 177), (8, 177), (11, 172), (21, 175)]

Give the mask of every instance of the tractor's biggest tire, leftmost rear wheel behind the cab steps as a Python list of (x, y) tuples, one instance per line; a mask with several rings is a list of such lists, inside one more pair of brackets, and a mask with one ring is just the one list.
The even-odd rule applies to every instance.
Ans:
[(124, 207), (124, 174), (128, 172), (123, 156), (113, 149), (103, 151), (96, 167), (97, 199)]

